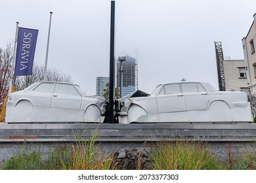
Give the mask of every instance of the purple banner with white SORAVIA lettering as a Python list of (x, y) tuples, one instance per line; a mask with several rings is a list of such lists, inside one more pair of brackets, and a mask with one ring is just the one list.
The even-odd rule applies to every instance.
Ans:
[(32, 75), (37, 34), (38, 30), (35, 29), (18, 29), (14, 76)]

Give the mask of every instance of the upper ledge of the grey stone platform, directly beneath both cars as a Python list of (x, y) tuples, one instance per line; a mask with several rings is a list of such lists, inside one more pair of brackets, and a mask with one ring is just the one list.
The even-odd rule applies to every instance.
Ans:
[(0, 124), (0, 142), (256, 141), (256, 124)]

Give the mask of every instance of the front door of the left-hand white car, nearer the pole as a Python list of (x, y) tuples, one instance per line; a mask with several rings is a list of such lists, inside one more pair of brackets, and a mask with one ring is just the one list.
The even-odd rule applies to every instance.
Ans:
[(81, 108), (81, 99), (82, 97), (74, 85), (56, 83), (51, 99), (51, 107), (79, 110)]

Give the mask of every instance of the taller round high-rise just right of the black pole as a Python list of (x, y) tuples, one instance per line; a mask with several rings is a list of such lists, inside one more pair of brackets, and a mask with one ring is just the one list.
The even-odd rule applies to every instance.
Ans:
[[(117, 88), (121, 90), (121, 76), (122, 76), (122, 96), (135, 92), (136, 90), (136, 59), (131, 56), (122, 56), (117, 58), (117, 73), (116, 84)], [(122, 67), (122, 69), (121, 69)]]

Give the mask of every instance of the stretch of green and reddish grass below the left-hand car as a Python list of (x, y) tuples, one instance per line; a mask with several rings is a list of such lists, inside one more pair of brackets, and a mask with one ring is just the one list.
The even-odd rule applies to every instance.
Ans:
[[(57, 146), (45, 159), (41, 152), (20, 152), (8, 159), (1, 169), (8, 170), (108, 170), (112, 166), (113, 155), (98, 151), (95, 146), (97, 134), (86, 141)], [(26, 147), (27, 148), (27, 147)]]

